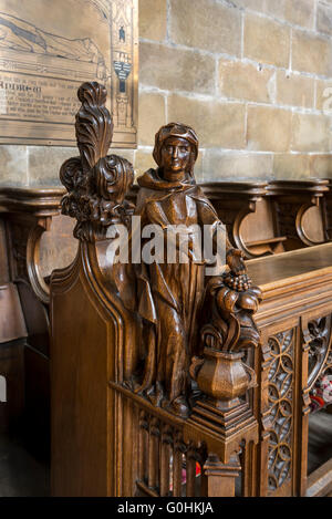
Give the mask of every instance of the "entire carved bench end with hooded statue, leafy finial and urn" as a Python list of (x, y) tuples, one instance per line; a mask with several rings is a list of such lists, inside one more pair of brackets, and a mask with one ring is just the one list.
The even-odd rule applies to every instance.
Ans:
[[(252, 314), (260, 291), (251, 286), (242, 253), (230, 248), (212, 205), (196, 185), (198, 138), (193, 128), (170, 123), (157, 132), (158, 167), (138, 178), (135, 208), (125, 199), (133, 167), (106, 155), (112, 120), (105, 95), (97, 83), (80, 87), (80, 157), (66, 160), (60, 172), (69, 191), (62, 211), (76, 218), (74, 236), (81, 245), (74, 263), (55, 271), (51, 281), (53, 492), (158, 495), (163, 490), (162, 495), (177, 496), (186, 456), (188, 495), (195, 487), (195, 459), (203, 470), (203, 489), (232, 495), (240, 444), (257, 442), (257, 421), (243, 401), (256, 378), (242, 355), (259, 341)], [(138, 261), (137, 229), (131, 216), (133, 221), (139, 217), (143, 229)], [(127, 231), (123, 236), (121, 225)], [(145, 248), (147, 226), (162, 238), (158, 250), (156, 245)], [(207, 253), (198, 239), (205, 228), (215, 245), (224, 236), (227, 267), (218, 262), (222, 248), (215, 256), (214, 250)], [(123, 239), (128, 262), (110, 255), (111, 246), (118, 252)], [(175, 253), (172, 259), (169, 249)], [(214, 262), (219, 271), (208, 281), (206, 268)], [(71, 312), (76, 316), (71, 330), (69, 324), (61, 329), (61, 316), (66, 323)], [(97, 342), (92, 339), (95, 333)], [(65, 355), (72, 375), (69, 367), (62, 371)], [(76, 408), (79, 427), (69, 402)], [(235, 417), (237, 434), (232, 428), (229, 437), (228, 424)], [(212, 423), (220, 434), (217, 444)], [(61, 424), (70, 433), (60, 449)], [(122, 436), (124, 430), (128, 436)], [(80, 451), (73, 459), (75, 448)], [(156, 471), (159, 454), (160, 473)], [(106, 475), (110, 464), (112, 474)], [(80, 484), (87, 466), (91, 476)], [(169, 470), (173, 490), (169, 477), (165, 481)]]

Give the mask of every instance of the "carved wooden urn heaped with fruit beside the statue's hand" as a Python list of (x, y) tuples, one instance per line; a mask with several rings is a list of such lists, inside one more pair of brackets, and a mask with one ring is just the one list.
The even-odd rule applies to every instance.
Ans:
[(204, 351), (190, 366), (198, 387), (214, 406), (224, 411), (238, 406), (238, 397), (256, 385), (255, 371), (242, 362), (242, 353), (259, 343), (253, 313), (261, 300), (260, 289), (251, 286), (247, 274), (242, 252), (230, 249), (226, 260), (229, 270), (207, 283)]

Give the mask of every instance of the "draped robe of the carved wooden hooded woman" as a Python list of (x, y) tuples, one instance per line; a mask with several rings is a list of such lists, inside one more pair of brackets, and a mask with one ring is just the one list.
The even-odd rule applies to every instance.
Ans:
[[(210, 201), (189, 177), (185, 181), (167, 181), (160, 172), (149, 169), (138, 178), (141, 187), (135, 215), (141, 216), (142, 229), (155, 224), (165, 236), (174, 225), (204, 225), (216, 229), (220, 225)], [(205, 288), (205, 259), (193, 261), (195, 250), (190, 230), (188, 261), (168, 263), (142, 262), (136, 269), (138, 313), (145, 320), (146, 361), (142, 391), (173, 403), (188, 394), (188, 367), (196, 353), (197, 314)], [(201, 233), (203, 236), (203, 233)], [(166, 246), (165, 246), (166, 251)], [(149, 323), (149, 324), (148, 324)]]

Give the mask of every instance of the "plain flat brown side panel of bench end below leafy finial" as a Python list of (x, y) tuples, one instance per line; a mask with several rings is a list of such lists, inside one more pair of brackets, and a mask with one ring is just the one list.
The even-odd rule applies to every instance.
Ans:
[[(52, 487), (56, 496), (106, 496), (107, 323), (89, 304), (80, 283), (70, 297), (54, 297), (52, 313), (62, 321), (53, 328), (51, 350), (52, 438), (58, 446), (52, 450)], [(73, 314), (79, 324), (74, 329)]]

